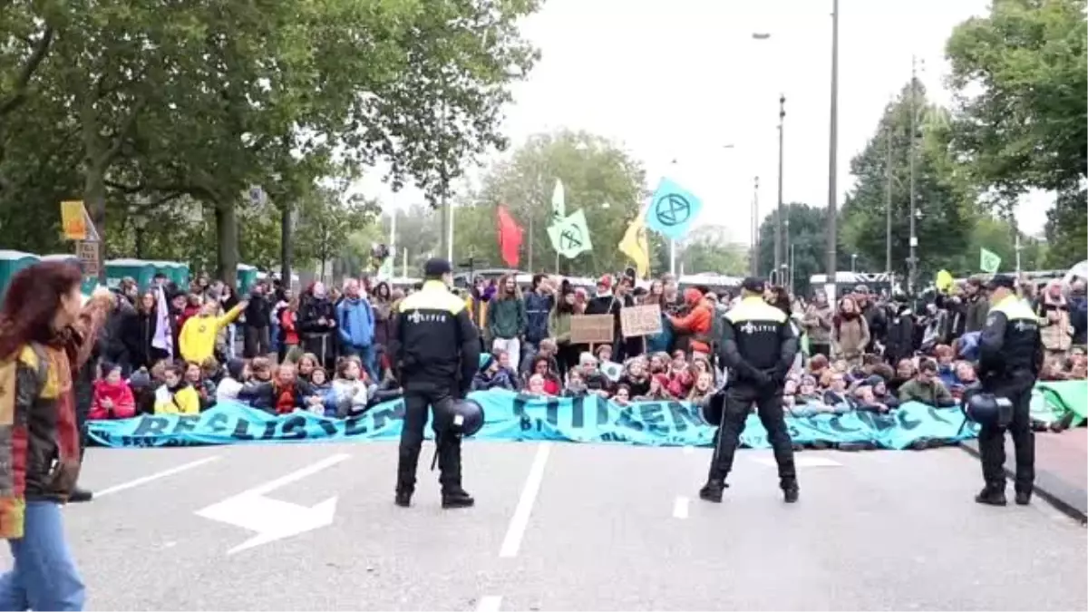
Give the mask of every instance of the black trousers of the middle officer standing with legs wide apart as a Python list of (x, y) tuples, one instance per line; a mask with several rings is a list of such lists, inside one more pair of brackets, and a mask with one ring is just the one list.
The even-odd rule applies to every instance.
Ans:
[(798, 470), (793, 464), (793, 443), (786, 428), (786, 416), (782, 412), (782, 388), (758, 388), (753, 384), (739, 383), (726, 389), (725, 404), (721, 413), (721, 425), (714, 433), (714, 458), (710, 463), (710, 479), (725, 480), (733, 467), (733, 455), (740, 444), (740, 436), (744, 431), (744, 423), (756, 405), (759, 420), (767, 430), (767, 440), (775, 451), (775, 462), (778, 463), (778, 478), (782, 488), (795, 487)]

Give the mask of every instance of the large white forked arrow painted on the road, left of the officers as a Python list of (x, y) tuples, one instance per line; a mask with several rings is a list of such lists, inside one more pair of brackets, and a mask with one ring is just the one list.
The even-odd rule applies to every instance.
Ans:
[(350, 455), (338, 454), (321, 460), (298, 472), (199, 510), (197, 515), (257, 533), (252, 538), (226, 551), (227, 554), (327, 527), (332, 525), (333, 516), (336, 514), (336, 495), (309, 507), (265, 495), (348, 458)]

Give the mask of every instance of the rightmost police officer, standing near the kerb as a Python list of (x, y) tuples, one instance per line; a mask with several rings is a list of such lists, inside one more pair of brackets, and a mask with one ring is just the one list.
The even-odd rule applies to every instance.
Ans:
[(1035, 481), (1035, 433), (1031, 431), (1031, 388), (1042, 367), (1043, 350), (1039, 320), (1016, 296), (1016, 282), (1006, 274), (989, 283), (990, 310), (978, 341), (981, 391), (1004, 397), (1011, 414), (997, 424), (982, 425), (978, 450), (982, 457), (986, 488), (978, 503), (1005, 505), (1005, 434), (1007, 428), (1016, 448), (1016, 503), (1031, 502)]

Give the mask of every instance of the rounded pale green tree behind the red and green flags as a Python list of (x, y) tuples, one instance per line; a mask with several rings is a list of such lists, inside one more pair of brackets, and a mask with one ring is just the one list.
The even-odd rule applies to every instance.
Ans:
[[(492, 166), (478, 193), (467, 196), (470, 207), (457, 216), (486, 223), (470, 230), (465, 248), (490, 261), (502, 261), (495, 237), (495, 207), (505, 205), (524, 230), (521, 245), (523, 269), (554, 270), (556, 252), (547, 236), (552, 218), (552, 193), (562, 182), (566, 209), (585, 211), (593, 250), (574, 259), (560, 259), (560, 271), (594, 274), (618, 271), (629, 265), (618, 245), (628, 224), (642, 211), (645, 171), (621, 148), (586, 133), (558, 132), (531, 137), (505, 160)], [(455, 223), (456, 223), (455, 217)], [(455, 235), (455, 240), (457, 240)], [(530, 257), (530, 252), (532, 256)]]

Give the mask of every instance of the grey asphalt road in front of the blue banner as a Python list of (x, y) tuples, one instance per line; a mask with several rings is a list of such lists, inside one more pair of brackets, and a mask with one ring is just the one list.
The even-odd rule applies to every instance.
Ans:
[[(1068, 612), (1088, 598), (1088, 529), (1041, 501), (975, 504), (978, 464), (960, 450), (801, 453), (792, 506), (754, 451), (725, 503), (701, 502), (709, 452), (469, 443), (478, 505), (442, 511), (426, 448), (409, 510), (392, 503), (392, 444), (96, 449), (85, 480), (106, 494), (65, 521), (88, 609), (109, 612)], [(337, 495), (331, 526), (227, 554), (254, 534), (197, 514), (338, 454), (264, 493)]]

